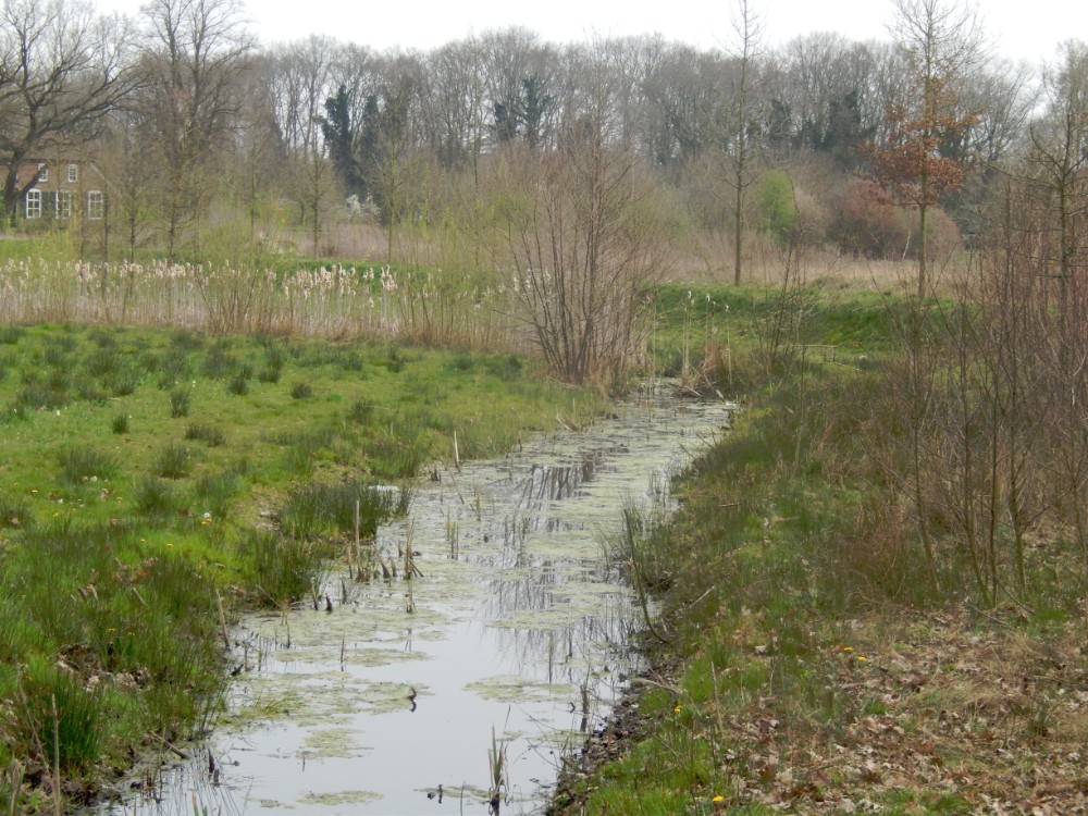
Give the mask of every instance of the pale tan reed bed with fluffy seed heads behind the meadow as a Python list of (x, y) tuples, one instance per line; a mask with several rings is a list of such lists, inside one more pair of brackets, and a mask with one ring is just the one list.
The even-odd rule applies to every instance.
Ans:
[(213, 334), (384, 338), (524, 350), (503, 285), (469, 275), (330, 265), (9, 260), (0, 323), (175, 326)]

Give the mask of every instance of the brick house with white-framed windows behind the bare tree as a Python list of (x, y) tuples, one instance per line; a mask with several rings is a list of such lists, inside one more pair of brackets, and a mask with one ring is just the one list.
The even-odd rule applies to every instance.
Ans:
[[(7, 168), (0, 169), (5, 172)], [(107, 182), (89, 161), (24, 162), (18, 168), (16, 189), (34, 180), (20, 201), (18, 214), (27, 221), (67, 221), (73, 215), (89, 221), (106, 218)]]

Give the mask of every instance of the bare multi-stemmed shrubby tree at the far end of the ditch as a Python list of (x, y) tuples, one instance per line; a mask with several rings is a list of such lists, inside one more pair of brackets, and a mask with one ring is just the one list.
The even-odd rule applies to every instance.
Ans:
[(498, 159), (496, 262), (555, 372), (610, 385), (643, 351), (646, 294), (665, 268), (663, 223), (636, 153), (610, 138), (613, 89), (588, 73), (581, 118), (554, 150)]

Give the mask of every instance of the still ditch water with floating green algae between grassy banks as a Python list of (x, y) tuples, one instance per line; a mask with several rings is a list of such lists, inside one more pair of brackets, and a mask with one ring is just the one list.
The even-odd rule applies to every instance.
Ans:
[(335, 569), (318, 609), (245, 618), (209, 745), (110, 813), (484, 814), (496, 746), (502, 813), (539, 813), (638, 669), (642, 609), (605, 542), (626, 503), (668, 500), (731, 406), (643, 395), (616, 410), (422, 481), (378, 533), (393, 580)]

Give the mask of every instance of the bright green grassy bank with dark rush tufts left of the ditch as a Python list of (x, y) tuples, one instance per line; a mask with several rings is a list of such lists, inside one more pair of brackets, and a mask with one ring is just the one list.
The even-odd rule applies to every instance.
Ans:
[(511, 355), (0, 327), (0, 813), (183, 750), (227, 679), (221, 606), (316, 601), (330, 557), (367, 580), (356, 526), (417, 472), (602, 408)]

